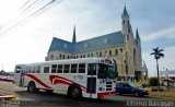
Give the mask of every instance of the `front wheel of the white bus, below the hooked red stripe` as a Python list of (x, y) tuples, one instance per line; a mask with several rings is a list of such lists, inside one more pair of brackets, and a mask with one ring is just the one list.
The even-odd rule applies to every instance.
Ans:
[(72, 98), (81, 97), (81, 90), (78, 86), (72, 86), (69, 93)]

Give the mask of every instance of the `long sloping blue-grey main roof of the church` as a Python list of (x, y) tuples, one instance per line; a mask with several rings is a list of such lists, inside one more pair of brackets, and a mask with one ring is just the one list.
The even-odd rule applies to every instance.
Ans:
[(78, 41), (78, 43), (70, 43), (70, 41), (54, 37), (48, 52), (56, 51), (56, 50), (61, 52), (71, 52), (71, 54), (85, 52), (90, 50), (96, 50), (96, 49), (113, 47), (113, 46), (122, 45), (122, 44), (125, 44), (125, 35), (122, 35), (121, 31), (98, 36), (95, 38)]

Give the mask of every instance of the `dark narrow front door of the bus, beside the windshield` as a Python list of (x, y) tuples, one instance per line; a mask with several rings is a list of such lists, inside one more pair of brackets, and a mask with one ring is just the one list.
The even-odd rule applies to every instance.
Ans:
[(96, 63), (88, 64), (88, 91), (90, 93), (90, 97), (95, 97), (96, 94)]

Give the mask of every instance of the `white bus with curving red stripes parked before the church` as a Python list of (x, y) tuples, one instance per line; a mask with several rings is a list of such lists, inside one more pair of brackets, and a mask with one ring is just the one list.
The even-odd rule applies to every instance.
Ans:
[(116, 62), (107, 58), (54, 60), (16, 64), (14, 83), (28, 92), (45, 90), (71, 97), (115, 95)]

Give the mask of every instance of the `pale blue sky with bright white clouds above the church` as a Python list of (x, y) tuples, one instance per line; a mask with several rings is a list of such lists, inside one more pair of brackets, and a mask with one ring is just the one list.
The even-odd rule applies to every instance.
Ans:
[[(0, 1), (0, 66), (7, 71), (13, 71), (16, 63), (44, 61), (52, 37), (71, 41), (74, 24), (78, 40), (120, 31), (125, 2), (133, 33), (139, 28), (149, 74), (156, 74), (155, 60), (150, 56), (155, 47), (163, 48), (165, 54), (160, 70), (175, 70), (174, 0), (63, 0), (60, 3), (61, 0), (56, 0), (39, 15), (31, 17), (27, 16), (51, 0), (30, 0), (42, 3), (24, 14), (26, 7), (22, 5), (26, 1)], [(16, 21), (22, 23), (3, 33)]]

